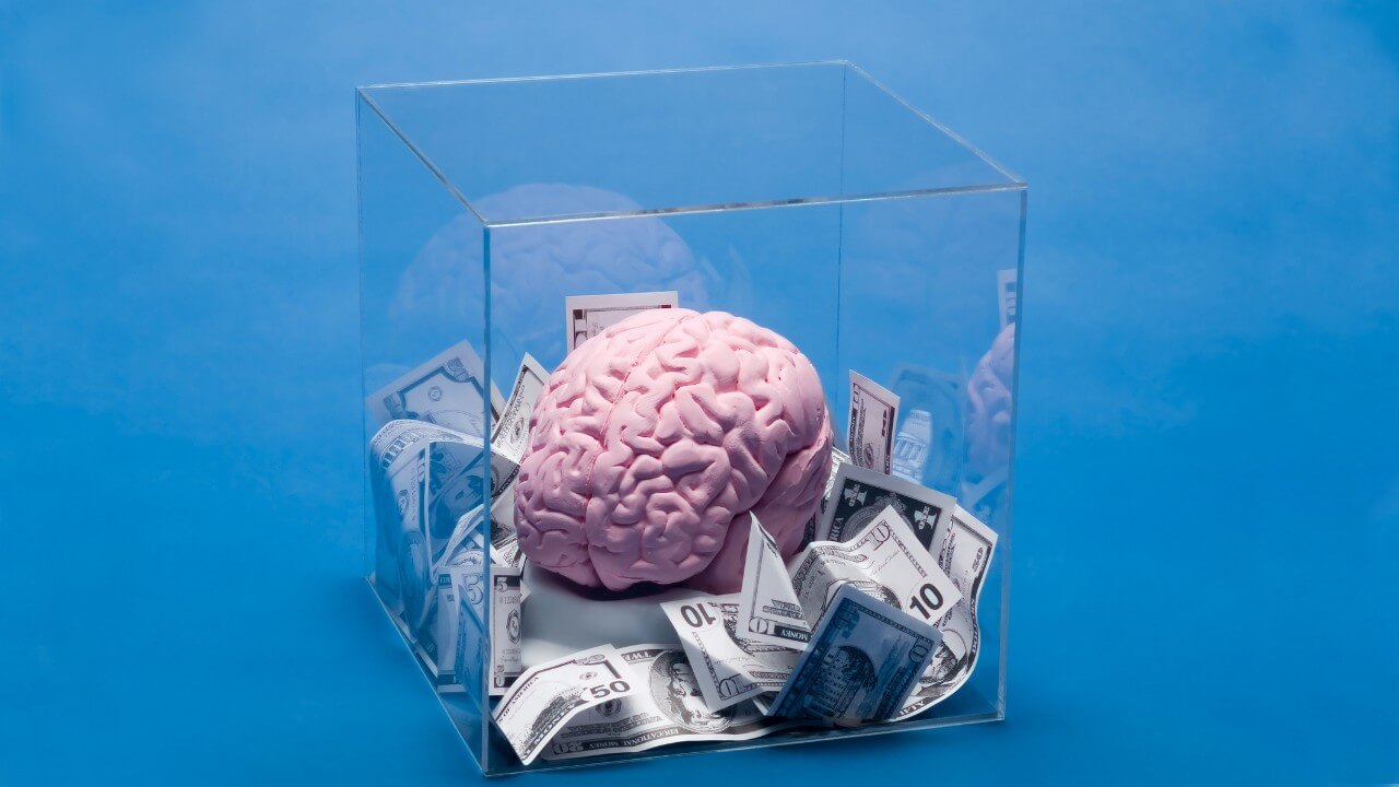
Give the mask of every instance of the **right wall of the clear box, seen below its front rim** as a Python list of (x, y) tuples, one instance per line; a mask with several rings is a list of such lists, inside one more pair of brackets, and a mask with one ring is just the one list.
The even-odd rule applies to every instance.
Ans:
[[(900, 398), (893, 475), (954, 496), (997, 536), (985, 571), (949, 570), (981, 584), (975, 630), (943, 626), (944, 647), (975, 669), (935, 716), (978, 697), (1000, 707), (1021, 209), (1021, 190), (845, 207), (839, 367)], [(834, 401), (844, 429), (848, 384)]]

